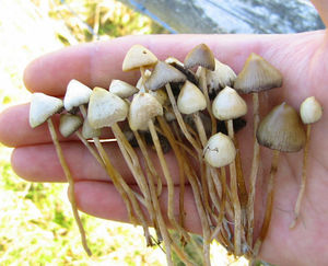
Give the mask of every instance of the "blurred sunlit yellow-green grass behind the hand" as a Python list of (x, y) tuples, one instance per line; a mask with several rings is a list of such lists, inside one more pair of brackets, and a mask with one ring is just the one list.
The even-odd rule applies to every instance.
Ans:
[[(45, 53), (127, 34), (165, 33), (117, 1), (67, 3), (0, 0), (1, 109), (28, 101), (22, 81), (24, 68)], [(87, 257), (67, 199), (67, 184), (21, 180), (11, 167), (11, 148), (0, 144), (0, 265), (166, 265), (161, 248), (145, 247), (139, 227), (81, 213), (94, 254)], [(246, 262), (237, 264), (213, 244), (213, 265)]]

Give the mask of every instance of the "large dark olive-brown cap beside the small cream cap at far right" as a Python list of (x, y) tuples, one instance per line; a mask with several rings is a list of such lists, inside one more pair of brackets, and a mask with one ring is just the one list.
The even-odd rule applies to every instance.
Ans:
[(297, 112), (282, 103), (276, 106), (259, 124), (257, 141), (272, 150), (300, 151), (305, 144), (305, 130)]

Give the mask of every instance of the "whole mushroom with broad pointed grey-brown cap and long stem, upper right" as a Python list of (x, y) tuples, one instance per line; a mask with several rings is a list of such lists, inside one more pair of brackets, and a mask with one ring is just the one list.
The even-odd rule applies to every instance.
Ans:
[(243, 70), (234, 81), (234, 89), (237, 92), (253, 94), (254, 148), (247, 203), (247, 243), (249, 246), (251, 246), (253, 243), (255, 187), (260, 162), (260, 149), (256, 140), (256, 132), (260, 120), (258, 93), (265, 90), (280, 88), (281, 85), (282, 76), (280, 71), (255, 53), (249, 55), (243, 67)]

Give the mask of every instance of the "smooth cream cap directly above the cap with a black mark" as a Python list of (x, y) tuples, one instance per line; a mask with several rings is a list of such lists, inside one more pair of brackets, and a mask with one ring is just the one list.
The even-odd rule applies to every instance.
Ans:
[(213, 115), (219, 120), (235, 119), (247, 113), (247, 104), (232, 88), (225, 86), (212, 103)]

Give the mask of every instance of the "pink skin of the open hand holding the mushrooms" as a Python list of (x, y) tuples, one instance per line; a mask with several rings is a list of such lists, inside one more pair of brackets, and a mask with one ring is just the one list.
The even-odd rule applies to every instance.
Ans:
[[(327, 1), (314, 1), (323, 21), (327, 21)], [(33, 61), (25, 70), (24, 81), (31, 92), (44, 92), (62, 96), (71, 79), (84, 82), (89, 86), (107, 88), (112, 79), (136, 82), (138, 71), (124, 73), (121, 62), (126, 51), (133, 44), (141, 44), (152, 50), (160, 59), (175, 56), (183, 60), (187, 53), (200, 43), (206, 43), (222, 62), (231, 66), (237, 73), (248, 55), (259, 54), (283, 74), (281, 89), (274, 89), (260, 95), (266, 114), (282, 101), (298, 109), (307, 96), (318, 99), (328, 109), (328, 42), (326, 31), (291, 35), (161, 35), (127, 36), (105, 43), (84, 44), (65, 48), (45, 55)], [(249, 96), (244, 99), (250, 103)], [(65, 175), (50, 142), (46, 125), (32, 129), (28, 125), (28, 104), (13, 106), (0, 115), (0, 142), (14, 147), (12, 167), (23, 178), (33, 182), (63, 182)], [(251, 106), (249, 106), (251, 109)], [(251, 114), (249, 122), (237, 137), (241, 143), (243, 167), (248, 176), (251, 162)], [(107, 130), (108, 131), (108, 130)], [(300, 223), (290, 230), (293, 208), (301, 183), (302, 152), (281, 153), (277, 178), (276, 199), (268, 236), (263, 242), (260, 257), (277, 265), (326, 265), (328, 262), (328, 117), (313, 126), (309, 158), (308, 182), (302, 203)], [(108, 136), (110, 137), (110, 132)], [(249, 144), (250, 143), (250, 144)], [(98, 166), (87, 150), (77, 141), (67, 139), (63, 152), (75, 180), (77, 203), (82, 211), (90, 215), (118, 221), (128, 221), (124, 203), (115, 190), (104, 170)], [(106, 144), (107, 152), (115, 166), (121, 171), (128, 183), (136, 185), (115, 142)], [(150, 151), (152, 152), (152, 151)], [(262, 217), (266, 181), (269, 176), (271, 151), (261, 148), (262, 163), (257, 184), (256, 234), (259, 231), (259, 218)], [(174, 171), (176, 194), (178, 190), (178, 170), (172, 154), (166, 155)], [(157, 163), (157, 162), (156, 162)], [(159, 164), (156, 165), (160, 169)], [(165, 185), (165, 178), (163, 178)], [(108, 197), (110, 195), (110, 197)], [(186, 227), (201, 233), (200, 221), (189, 184), (186, 186)], [(166, 188), (161, 196), (165, 208)], [(176, 210), (178, 198), (176, 198)]]

